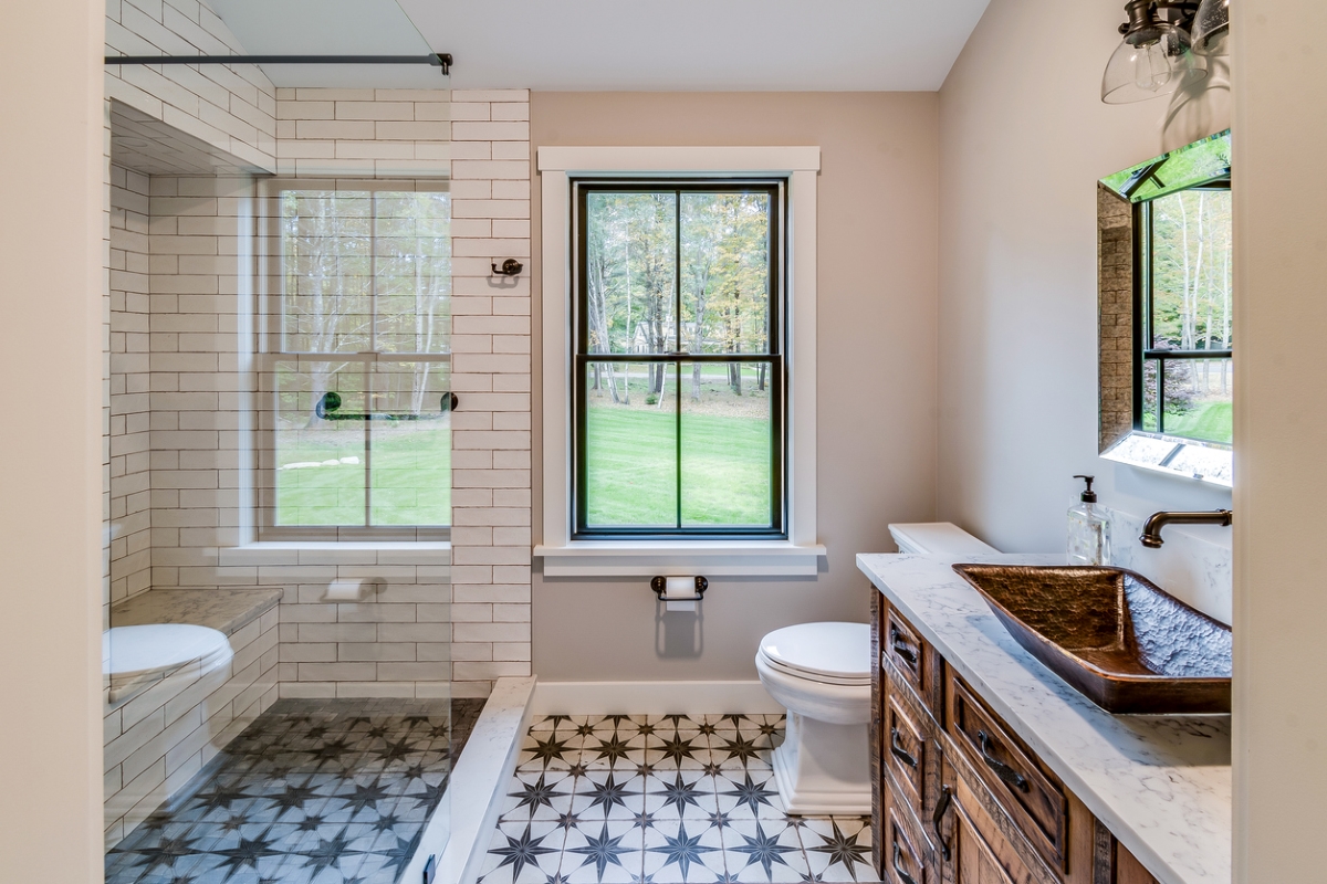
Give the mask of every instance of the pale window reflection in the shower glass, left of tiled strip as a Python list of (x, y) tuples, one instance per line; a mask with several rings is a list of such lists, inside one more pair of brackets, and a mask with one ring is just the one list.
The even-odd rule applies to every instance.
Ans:
[(439, 537), (451, 513), (445, 186), (273, 183), (269, 207), (260, 531)]

